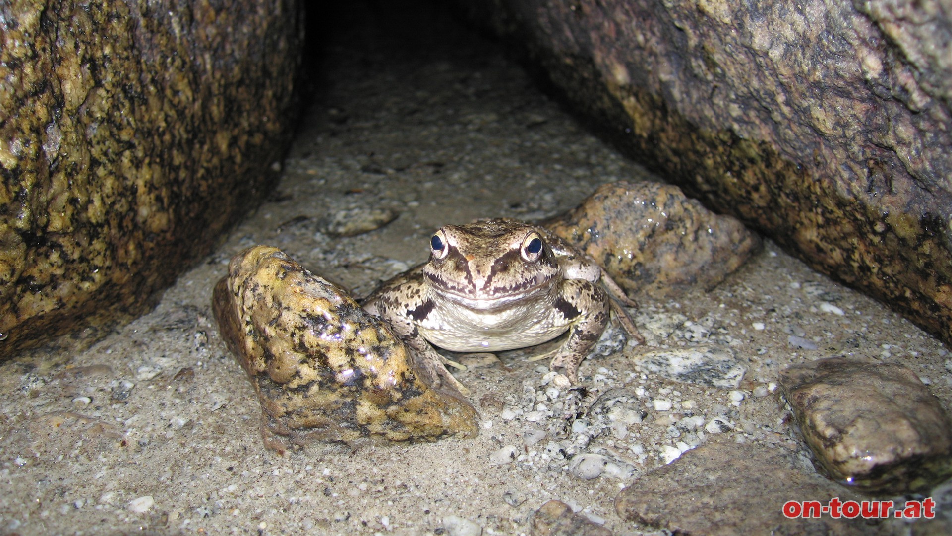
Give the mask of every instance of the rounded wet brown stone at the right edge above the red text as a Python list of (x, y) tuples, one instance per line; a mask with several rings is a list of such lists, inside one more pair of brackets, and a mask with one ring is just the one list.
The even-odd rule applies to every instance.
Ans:
[(830, 478), (900, 494), (952, 476), (952, 423), (908, 368), (826, 358), (786, 368), (781, 387)]

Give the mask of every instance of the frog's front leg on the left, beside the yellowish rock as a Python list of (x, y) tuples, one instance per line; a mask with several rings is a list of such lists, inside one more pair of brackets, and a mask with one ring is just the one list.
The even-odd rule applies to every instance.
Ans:
[[(440, 355), (433, 346), (420, 334), (420, 330), (413, 322), (413, 315), (419, 314), (418, 307), (407, 307), (405, 301), (394, 299), (391, 295), (407, 294), (407, 288), (397, 287), (390, 292), (378, 292), (363, 303), (364, 310), (371, 315), (387, 321), (387, 324), (393, 330), (394, 335), (407, 343), (410, 352), (413, 354), (413, 361), (417, 364), (420, 373), (426, 375), (426, 380), (434, 389), (440, 388), (444, 381), (452, 385), (460, 394), (469, 396), (469, 389), (466, 385), (456, 380), (448, 370), (446, 364), (452, 365), (461, 370), (466, 370), (466, 366), (450, 361)], [(404, 292), (401, 292), (404, 291)], [(412, 295), (413, 293), (410, 293)]]

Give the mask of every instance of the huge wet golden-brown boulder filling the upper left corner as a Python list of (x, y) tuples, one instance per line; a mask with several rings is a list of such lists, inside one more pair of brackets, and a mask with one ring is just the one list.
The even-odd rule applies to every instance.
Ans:
[(298, 16), (295, 0), (0, 5), (0, 357), (143, 312), (260, 201)]

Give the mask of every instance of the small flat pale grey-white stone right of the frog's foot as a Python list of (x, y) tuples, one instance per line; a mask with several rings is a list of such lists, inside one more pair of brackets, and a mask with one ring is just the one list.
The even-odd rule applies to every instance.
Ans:
[(655, 350), (633, 358), (635, 366), (668, 380), (736, 389), (744, 380), (747, 367), (724, 346), (701, 345), (692, 348)]

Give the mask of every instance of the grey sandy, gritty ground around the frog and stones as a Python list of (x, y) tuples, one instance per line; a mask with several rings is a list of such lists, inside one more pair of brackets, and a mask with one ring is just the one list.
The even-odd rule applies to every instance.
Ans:
[[(212, 286), (232, 255), (253, 244), (278, 246), (364, 296), (425, 260), (440, 225), (551, 216), (603, 182), (646, 176), (491, 46), (458, 29), (444, 36), (452, 46), (412, 28), (397, 33), (385, 38), (371, 26), (327, 49), (318, 103), (278, 191), (179, 278), (154, 312), (86, 351), (34, 352), (0, 364), (7, 395), (0, 533), (446, 534), (446, 516), (459, 516), (484, 534), (521, 534), (532, 512), (560, 499), (616, 534), (639, 534), (648, 529), (615, 513), (619, 489), (664, 464), (665, 445), (709, 438), (701, 429), (674, 437), (675, 421), (720, 416), (733, 441), (796, 444), (771, 390), (788, 363), (843, 353), (902, 362), (949, 409), (952, 375), (940, 342), (768, 241), (713, 291), (643, 300), (637, 319), (655, 326), (645, 327), (654, 346), (731, 348), (748, 367), (743, 401), (645, 374), (630, 349), (583, 364), (593, 390), (639, 393), (631, 409), (645, 415), (642, 423), (585, 447), (633, 471), (583, 480), (549, 443), (567, 446), (577, 436), (526, 444), (545, 422), (504, 417), (526, 387), (545, 391), (545, 368), (520, 355), (503, 356), (505, 367), (458, 375), (482, 415), (476, 439), (315, 445), (286, 457), (266, 450), (258, 402), (210, 313)], [(357, 237), (321, 233), (330, 214), (374, 207), (400, 216)], [(791, 347), (790, 335), (817, 349)], [(765, 396), (754, 396), (758, 387)], [(656, 410), (656, 399), (671, 409)], [(493, 464), (490, 455), (510, 444), (523, 456)]]

